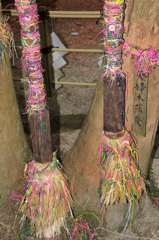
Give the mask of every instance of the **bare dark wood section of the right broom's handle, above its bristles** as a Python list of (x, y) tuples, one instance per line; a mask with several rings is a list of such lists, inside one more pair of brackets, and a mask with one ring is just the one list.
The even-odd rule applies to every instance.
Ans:
[(125, 79), (110, 85), (107, 78), (103, 79), (103, 130), (118, 133), (124, 128), (125, 123)]

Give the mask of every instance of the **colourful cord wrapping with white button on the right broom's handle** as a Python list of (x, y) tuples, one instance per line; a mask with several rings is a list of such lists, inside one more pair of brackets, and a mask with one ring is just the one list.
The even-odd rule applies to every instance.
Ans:
[(103, 41), (106, 65), (103, 66), (102, 77), (110, 79), (110, 82), (125, 79), (125, 72), (121, 69), (124, 8), (124, 0), (104, 0)]

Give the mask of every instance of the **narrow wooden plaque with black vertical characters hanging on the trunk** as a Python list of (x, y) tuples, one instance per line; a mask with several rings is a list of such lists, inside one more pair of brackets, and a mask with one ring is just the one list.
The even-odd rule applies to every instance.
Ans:
[(146, 136), (147, 120), (147, 94), (148, 94), (148, 77), (144, 79), (134, 73), (133, 84), (133, 121), (132, 132), (135, 135)]

